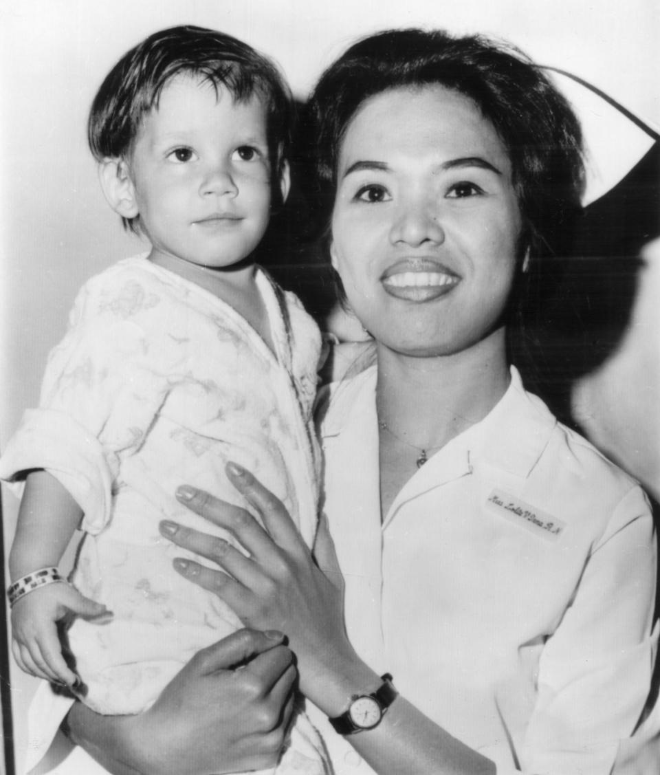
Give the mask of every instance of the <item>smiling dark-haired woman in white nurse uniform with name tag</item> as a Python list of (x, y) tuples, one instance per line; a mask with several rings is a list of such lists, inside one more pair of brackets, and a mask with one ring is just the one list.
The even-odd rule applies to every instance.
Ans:
[[(655, 772), (648, 501), (507, 355), (577, 212), (575, 117), (517, 51), (417, 30), (356, 43), (312, 108), (329, 254), (372, 336), (319, 406), (335, 550), (321, 531), (315, 563), (230, 464), (249, 508), (178, 497), (247, 554), (164, 522), (205, 558), (175, 567), (285, 633), (340, 775)], [(108, 749), (112, 721), (70, 726)]]

